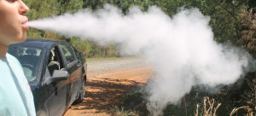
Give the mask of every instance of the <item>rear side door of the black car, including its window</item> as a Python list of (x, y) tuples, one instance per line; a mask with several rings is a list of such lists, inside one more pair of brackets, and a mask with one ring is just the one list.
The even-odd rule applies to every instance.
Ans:
[(61, 49), (65, 56), (65, 62), (67, 63), (67, 72), (70, 74), (70, 104), (71, 105), (79, 94), (79, 90), (82, 86), (81, 81), (81, 62), (78, 61), (77, 56), (74, 53), (73, 48), (69, 44), (61, 44)]

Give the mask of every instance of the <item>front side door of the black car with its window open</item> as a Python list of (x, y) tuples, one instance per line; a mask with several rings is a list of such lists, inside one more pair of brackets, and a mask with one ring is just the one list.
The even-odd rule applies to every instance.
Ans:
[[(45, 78), (52, 78), (54, 70), (66, 70), (61, 57), (61, 51), (55, 46), (49, 51), (49, 60), (47, 62)], [(50, 80), (50, 79), (49, 79)], [(68, 106), (69, 82), (67, 80), (51, 81), (47, 86), (49, 99), (46, 106), (49, 110), (49, 116), (61, 116), (65, 113)]]

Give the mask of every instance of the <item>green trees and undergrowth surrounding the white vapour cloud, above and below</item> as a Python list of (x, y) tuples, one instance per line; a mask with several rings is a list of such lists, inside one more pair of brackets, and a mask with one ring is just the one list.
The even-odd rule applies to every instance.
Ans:
[[(126, 14), (131, 6), (140, 6), (147, 12), (150, 6), (160, 7), (171, 18), (179, 8), (198, 8), (211, 20), (214, 39), (218, 43), (239, 46), (256, 58), (256, 1), (255, 0), (23, 0), (31, 11), (30, 20), (50, 17), (65, 13), (75, 13), (81, 9), (102, 9), (105, 3), (113, 4)], [(87, 58), (120, 57), (119, 44), (100, 46), (90, 38), (66, 38), (54, 32), (44, 32), (33, 28), (28, 30), (28, 37), (55, 38), (66, 40)], [(94, 61), (96, 59), (88, 59)], [(178, 105), (169, 105), (164, 115), (213, 116), (221, 115), (256, 115), (256, 75), (247, 73), (245, 78), (232, 85), (223, 86), (212, 94), (207, 87), (195, 86)], [(147, 93), (136, 91), (113, 106), (114, 115), (148, 115), (146, 109)], [(208, 96), (208, 97), (205, 97)], [(221, 103), (221, 105), (218, 105)], [(208, 109), (210, 110), (208, 111)], [(211, 111), (211, 112), (210, 112)], [(209, 114), (210, 113), (210, 114)]]

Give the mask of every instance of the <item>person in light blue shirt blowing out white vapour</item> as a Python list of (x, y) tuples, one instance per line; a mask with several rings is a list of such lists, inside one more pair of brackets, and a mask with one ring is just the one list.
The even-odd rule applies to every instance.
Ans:
[(9, 44), (26, 40), (28, 7), (21, 0), (0, 0), (0, 116), (34, 116), (32, 91)]

